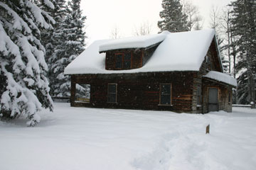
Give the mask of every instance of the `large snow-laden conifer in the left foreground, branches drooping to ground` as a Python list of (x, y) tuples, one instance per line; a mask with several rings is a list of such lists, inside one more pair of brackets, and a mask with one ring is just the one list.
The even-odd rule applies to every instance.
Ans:
[[(53, 7), (49, 0), (44, 5)], [(27, 125), (40, 121), (42, 108), (53, 110), (49, 95), (39, 28), (50, 28), (53, 19), (33, 1), (0, 1), (0, 113), (2, 118), (29, 119)]]

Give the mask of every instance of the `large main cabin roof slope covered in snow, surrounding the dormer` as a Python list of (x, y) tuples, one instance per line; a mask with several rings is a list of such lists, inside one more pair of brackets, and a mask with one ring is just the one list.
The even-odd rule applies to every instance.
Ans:
[[(161, 38), (164, 39), (162, 42), (160, 40), (161, 44), (142, 68), (127, 70), (106, 70), (105, 52), (100, 53), (100, 50), (114, 49), (114, 47), (117, 47), (114, 42), (118, 42), (118, 40), (97, 40), (87, 47), (73, 62), (68, 64), (68, 67), (65, 68), (65, 74), (198, 71), (214, 36), (215, 30), (210, 29), (181, 33), (168, 33), (165, 31), (158, 35), (149, 35), (147, 38), (142, 37), (143, 40), (141, 42), (137, 41), (136, 45), (130, 47), (139, 47), (139, 44), (142, 45), (144, 43), (146, 45), (154, 44), (159, 42)], [(134, 41), (139, 39), (134, 38)], [(153, 42), (153, 40), (155, 41)], [(122, 42), (124, 43), (124, 39), (122, 39)], [(132, 38), (127, 39), (127, 47), (128, 45), (132, 45)], [(106, 48), (104, 49), (104, 47)]]

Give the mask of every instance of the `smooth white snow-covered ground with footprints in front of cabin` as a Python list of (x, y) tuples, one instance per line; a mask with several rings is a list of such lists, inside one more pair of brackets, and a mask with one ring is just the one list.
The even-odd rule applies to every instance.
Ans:
[[(210, 135), (206, 125), (210, 123)], [(0, 122), (1, 170), (255, 169), (256, 110), (206, 115), (71, 108)]]

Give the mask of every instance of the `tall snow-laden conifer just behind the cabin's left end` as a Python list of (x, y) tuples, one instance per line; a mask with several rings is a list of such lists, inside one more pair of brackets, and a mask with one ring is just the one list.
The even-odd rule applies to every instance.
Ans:
[[(70, 77), (64, 75), (65, 67), (70, 64), (80, 53), (85, 50), (85, 32), (82, 30), (85, 26), (85, 16), (82, 16), (80, 9), (80, 0), (68, 2), (66, 8), (67, 15), (63, 22), (63, 42), (58, 45), (53, 56), (57, 59), (52, 65), (53, 74), (55, 74), (55, 83), (53, 85), (53, 94), (55, 96), (70, 96)], [(78, 93), (85, 94), (85, 88), (77, 87)]]

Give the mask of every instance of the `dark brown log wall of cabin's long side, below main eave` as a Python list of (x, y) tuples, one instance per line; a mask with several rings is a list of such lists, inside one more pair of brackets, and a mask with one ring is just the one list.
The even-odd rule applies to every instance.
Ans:
[[(73, 84), (90, 84), (90, 106), (191, 112), (194, 72), (73, 75)], [(107, 84), (117, 83), (117, 103), (107, 103)], [(172, 84), (172, 106), (159, 106), (161, 83)], [(74, 94), (74, 92), (72, 92)], [(71, 100), (71, 106), (81, 106)]]

